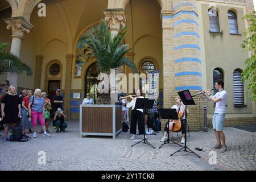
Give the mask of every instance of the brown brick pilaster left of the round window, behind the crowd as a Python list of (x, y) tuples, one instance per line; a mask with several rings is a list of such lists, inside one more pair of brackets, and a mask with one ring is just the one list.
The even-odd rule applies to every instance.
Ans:
[[(42, 64), (44, 57), (42, 55), (36, 55), (36, 65), (34, 73), (34, 88), (41, 88), (41, 77), (42, 77)], [(46, 89), (46, 88), (44, 88)]]

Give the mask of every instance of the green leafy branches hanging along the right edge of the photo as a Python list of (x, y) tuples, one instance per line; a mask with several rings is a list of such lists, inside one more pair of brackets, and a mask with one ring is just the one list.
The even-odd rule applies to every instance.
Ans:
[(251, 101), (256, 100), (256, 16), (255, 11), (243, 17), (249, 21), (249, 28), (243, 33), (246, 40), (243, 41), (241, 47), (245, 51), (252, 52), (250, 58), (245, 61), (245, 70), (242, 73), (242, 81), (249, 83), (249, 97)]

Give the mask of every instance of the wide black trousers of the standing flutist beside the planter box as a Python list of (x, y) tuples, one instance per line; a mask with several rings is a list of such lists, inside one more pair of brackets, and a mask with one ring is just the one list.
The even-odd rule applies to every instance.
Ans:
[(137, 121), (139, 127), (139, 135), (144, 135), (145, 130), (143, 113), (141, 111), (138, 111), (137, 109), (134, 109), (131, 111), (131, 134), (136, 135)]

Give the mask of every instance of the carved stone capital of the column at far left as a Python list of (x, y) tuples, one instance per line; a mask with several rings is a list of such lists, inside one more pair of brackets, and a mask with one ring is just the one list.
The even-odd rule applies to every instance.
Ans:
[(30, 29), (34, 27), (30, 22), (24, 19), (22, 16), (11, 17), (3, 19), (7, 23), (7, 29), (13, 32), (13, 37), (23, 38), (24, 33), (29, 33)]

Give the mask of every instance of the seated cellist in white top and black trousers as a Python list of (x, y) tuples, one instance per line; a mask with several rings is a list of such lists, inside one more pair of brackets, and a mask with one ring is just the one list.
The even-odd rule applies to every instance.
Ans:
[[(184, 106), (183, 102), (181, 102), (181, 99), (179, 96), (175, 97), (174, 101), (176, 102), (176, 104), (174, 106), (172, 106), (172, 109), (176, 109), (178, 118), (181, 119), (181, 132), (182, 132), (181, 143), (185, 143), (185, 128), (187, 127), (185, 125), (185, 113), (184, 113), (185, 106)], [(188, 108), (187, 108), (187, 113), (188, 113)], [(160, 140), (160, 142), (165, 142), (168, 139), (168, 132), (169, 132), (169, 130), (172, 131), (174, 122), (175, 122), (174, 120), (170, 120), (169, 129), (168, 129), (168, 122), (166, 122), (166, 126), (164, 127), (164, 136)]]

